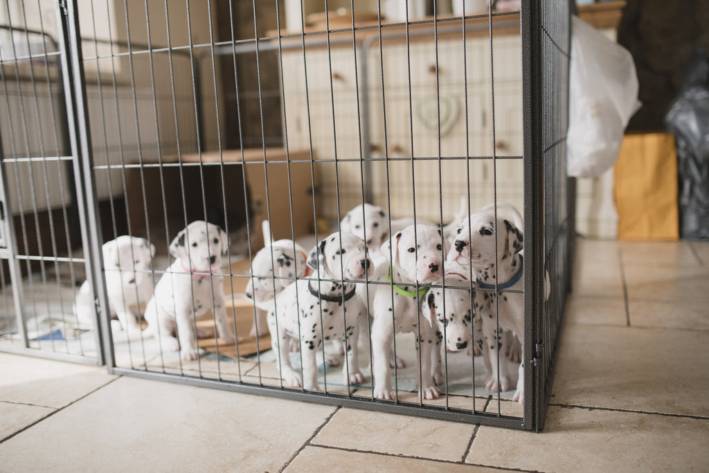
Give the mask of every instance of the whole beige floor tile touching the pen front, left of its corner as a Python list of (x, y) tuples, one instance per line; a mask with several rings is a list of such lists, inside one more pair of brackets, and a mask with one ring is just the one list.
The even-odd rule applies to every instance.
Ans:
[(473, 429), (467, 424), (343, 408), (311, 443), (456, 462), (465, 454)]

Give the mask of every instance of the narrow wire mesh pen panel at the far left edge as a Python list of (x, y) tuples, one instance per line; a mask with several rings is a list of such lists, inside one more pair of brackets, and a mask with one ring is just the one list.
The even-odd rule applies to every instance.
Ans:
[(57, 13), (50, 2), (0, 6), (0, 350), (100, 362), (89, 287), (88, 317), (73, 307), (87, 242)]

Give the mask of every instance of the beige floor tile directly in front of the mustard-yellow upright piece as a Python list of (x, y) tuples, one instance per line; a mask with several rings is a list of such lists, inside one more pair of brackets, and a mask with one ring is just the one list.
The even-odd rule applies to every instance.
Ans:
[(698, 266), (698, 260), (688, 241), (623, 242), (620, 253), (626, 264), (659, 263), (661, 265)]

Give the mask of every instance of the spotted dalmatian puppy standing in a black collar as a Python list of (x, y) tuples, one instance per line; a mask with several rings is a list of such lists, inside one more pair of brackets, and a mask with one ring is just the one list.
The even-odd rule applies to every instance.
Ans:
[[(320, 389), (316, 352), (325, 340), (344, 340), (347, 362), (342, 374), (345, 385), (361, 384), (357, 339), (358, 319), (366, 314), (362, 300), (354, 297), (357, 284), (372, 274), (364, 240), (351, 233), (333, 233), (308, 255), (310, 277), (290, 284), (276, 297), (267, 322), (271, 344), (278, 351), (278, 365), (285, 384)], [(344, 281), (344, 284), (342, 282)], [(289, 340), (301, 345), (303, 377), (291, 366)]]

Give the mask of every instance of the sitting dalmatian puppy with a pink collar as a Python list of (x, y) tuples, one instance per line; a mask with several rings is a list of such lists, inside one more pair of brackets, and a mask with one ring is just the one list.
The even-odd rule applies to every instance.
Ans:
[(150, 335), (162, 350), (179, 350), (182, 360), (199, 357), (197, 338), (213, 335), (211, 329), (195, 333), (195, 319), (211, 309), (225, 344), (236, 338), (224, 305), (223, 277), (219, 272), (227, 254), (228, 238), (213, 223), (194, 221), (181, 230), (169, 246), (175, 260), (155, 286), (145, 307)]

